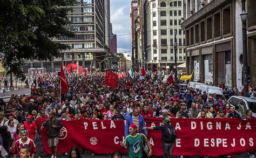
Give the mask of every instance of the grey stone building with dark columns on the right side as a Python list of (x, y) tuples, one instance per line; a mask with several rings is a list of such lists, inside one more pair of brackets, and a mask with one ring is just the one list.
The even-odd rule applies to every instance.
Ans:
[[(256, 84), (256, 6), (246, 0), (247, 59), (251, 85)], [(241, 0), (183, 0), (186, 31), (186, 72), (194, 81), (221, 81), (243, 88)]]

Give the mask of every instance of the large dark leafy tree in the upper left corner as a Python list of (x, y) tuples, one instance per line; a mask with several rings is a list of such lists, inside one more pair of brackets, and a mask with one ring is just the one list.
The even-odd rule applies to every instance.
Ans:
[(54, 42), (73, 37), (65, 28), (74, 0), (0, 0), (0, 52), (7, 73), (24, 78), (24, 59), (51, 60), (70, 46)]

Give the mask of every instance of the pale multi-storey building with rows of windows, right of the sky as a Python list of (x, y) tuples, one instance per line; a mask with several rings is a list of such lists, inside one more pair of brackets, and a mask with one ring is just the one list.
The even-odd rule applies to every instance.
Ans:
[[(146, 1), (144, 3), (144, 35), (148, 69), (172, 69), (174, 66), (174, 35), (177, 33), (177, 65), (185, 63), (185, 34), (181, 30), (182, 1)], [(169, 71), (170, 71), (169, 69)]]

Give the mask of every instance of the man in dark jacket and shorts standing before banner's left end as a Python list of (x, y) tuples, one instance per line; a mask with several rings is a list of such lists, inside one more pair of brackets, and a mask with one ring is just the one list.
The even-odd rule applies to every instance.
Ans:
[(56, 158), (59, 143), (59, 133), (63, 125), (62, 121), (56, 118), (54, 111), (50, 111), (49, 116), (50, 118), (42, 123), (41, 130), (44, 127), (47, 128), (48, 146), (51, 148), (52, 157)]

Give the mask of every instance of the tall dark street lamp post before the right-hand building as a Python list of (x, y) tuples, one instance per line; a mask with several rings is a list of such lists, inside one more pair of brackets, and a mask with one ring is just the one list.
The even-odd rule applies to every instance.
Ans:
[(240, 14), (240, 18), (242, 21), (242, 65), (244, 71), (244, 96), (248, 97), (248, 63), (247, 63), (247, 30), (246, 30), (246, 22), (247, 22), (247, 13), (245, 10), (245, 2), (246, 0), (242, 0), (242, 13)]

